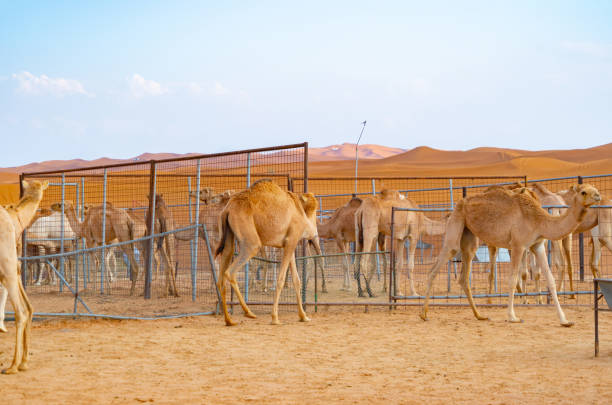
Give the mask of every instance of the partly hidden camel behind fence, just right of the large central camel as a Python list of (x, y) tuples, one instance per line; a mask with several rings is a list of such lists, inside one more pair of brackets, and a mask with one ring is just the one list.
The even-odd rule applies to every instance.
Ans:
[[(348, 203), (335, 210), (326, 222), (317, 223), (319, 238), (333, 239), (338, 245), (340, 252), (345, 254), (342, 258), (344, 265), (344, 280), (341, 290), (343, 291), (351, 290), (351, 279), (349, 276), (350, 263), (349, 257), (347, 256), (349, 253), (348, 244), (350, 242), (355, 242), (355, 211), (361, 206), (362, 201), (361, 198), (353, 197)], [(384, 235), (379, 234), (378, 244), (379, 250), (384, 251)], [(387, 257), (383, 254), (383, 269), (386, 268)], [(386, 273), (384, 274), (386, 279)], [(386, 283), (384, 283), (384, 286), (386, 287)], [(323, 292), (326, 292), (325, 278), (323, 278)]]

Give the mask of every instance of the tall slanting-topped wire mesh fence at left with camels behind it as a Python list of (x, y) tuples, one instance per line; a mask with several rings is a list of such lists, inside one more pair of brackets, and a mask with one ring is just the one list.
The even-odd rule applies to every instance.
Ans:
[[(213, 311), (210, 253), (224, 193), (262, 178), (306, 191), (307, 182), (295, 189), (291, 179), (307, 177), (307, 156), (304, 143), (22, 174), (50, 182), (41, 217), (23, 235), (22, 281), (35, 310), (147, 317)], [(268, 259), (277, 253), (270, 249)], [(258, 301), (252, 286), (263, 272), (251, 266), (239, 282), (247, 299)], [(287, 288), (282, 300), (291, 297)]]

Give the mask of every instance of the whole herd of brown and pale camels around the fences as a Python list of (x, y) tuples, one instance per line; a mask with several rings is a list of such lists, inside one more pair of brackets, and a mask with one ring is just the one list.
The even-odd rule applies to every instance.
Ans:
[[(21, 251), (21, 235), (24, 229), (30, 227), (31, 232), (44, 234), (44, 221), (50, 221), (53, 215), (62, 212), (62, 206), (54, 204), (51, 210), (39, 210), (43, 192), (47, 182), (24, 181), (23, 196), (20, 201), (11, 206), (0, 207), (0, 282), (4, 286), (0, 297), (0, 331), (6, 332), (4, 326), (4, 305), (7, 297), (15, 310), (17, 328), (14, 358), (11, 365), (3, 373), (15, 373), (27, 369), (28, 344), (32, 322), (32, 306), (27, 298), (21, 278), (21, 265), (18, 253)], [(536, 288), (539, 289), (540, 274), (544, 273), (548, 290), (552, 296), (559, 320), (563, 326), (571, 326), (561, 309), (557, 297), (557, 286), (548, 265), (545, 251), (545, 241), (552, 242), (553, 264), (566, 269), (570, 290), (574, 291), (571, 262), (571, 236), (578, 232), (591, 232), (593, 240), (591, 270), (598, 276), (598, 263), (601, 246), (612, 251), (612, 210), (588, 209), (592, 205), (612, 204), (611, 200), (602, 199), (597, 189), (588, 184), (572, 186), (569, 190), (553, 193), (545, 187), (535, 184), (525, 187), (520, 184), (512, 186), (492, 186), (480, 194), (475, 194), (459, 201), (455, 209), (444, 220), (428, 218), (422, 211), (397, 211), (394, 219), (394, 229), (391, 229), (392, 207), (418, 209), (418, 205), (394, 190), (383, 190), (378, 195), (364, 199), (353, 197), (344, 206), (338, 208), (325, 222), (317, 220), (318, 201), (312, 193), (294, 193), (280, 188), (271, 180), (260, 180), (251, 187), (239, 192), (215, 193), (210, 188), (203, 189), (199, 195), (203, 212), (200, 222), (216, 239), (215, 258), (219, 260), (219, 278), (217, 288), (221, 297), (221, 308), (226, 325), (234, 325), (226, 304), (226, 284), (229, 283), (242, 306), (245, 316), (255, 318), (248, 308), (237, 282), (237, 272), (257, 254), (265, 255), (265, 247), (282, 249), (282, 258), (276, 280), (274, 301), (272, 307), (272, 323), (278, 324), (278, 303), (281, 291), (286, 281), (287, 270), (290, 267), (292, 282), (296, 293), (298, 315), (301, 321), (308, 321), (301, 297), (301, 281), (297, 272), (295, 249), (298, 242), (306, 240), (321, 254), (319, 238), (333, 239), (343, 256), (342, 289), (351, 290), (352, 279), (357, 281), (359, 296), (374, 296), (371, 281), (374, 266), (368, 263), (371, 254), (357, 256), (354, 271), (351, 276), (351, 263), (348, 252), (349, 243), (354, 242), (359, 253), (375, 252), (377, 247), (385, 250), (385, 241), (393, 235), (391, 243), (395, 251), (401, 252), (401, 247), (408, 240), (407, 279), (410, 295), (416, 296), (412, 271), (414, 268), (414, 253), (417, 242), (424, 235), (443, 235), (443, 244), (435, 264), (428, 272), (425, 301), (421, 318), (427, 320), (429, 297), (433, 281), (440, 268), (458, 252), (462, 254), (461, 274), (459, 284), (463, 288), (474, 316), (477, 319), (487, 319), (482, 316), (474, 304), (470, 287), (471, 262), (480, 241), (489, 246), (491, 268), (489, 270), (489, 292), (493, 286), (493, 266), (498, 248), (506, 248), (511, 252), (511, 276), (509, 281), (508, 320), (519, 322), (514, 312), (515, 289), (524, 289), (520, 278), (525, 277), (528, 261), (534, 261)], [(563, 205), (569, 208), (556, 208), (549, 213), (542, 205)], [(207, 210), (207, 211), (206, 211)], [(139, 218), (129, 210), (106, 206), (92, 206), (87, 212), (79, 215), (74, 206), (65, 202), (63, 211), (68, 226), (64, 229), (77, 238), (83, 238), (88, 247), (102, 246), (116, 242), (131, 241), (142, 238), (146, 234), (146, 223), (149, 219)], [(47, 218), (47, 219), (45, 219)], [(213, 218), (213, 223), (210, 223)], [(35, 226), (38, 221), (40, 226)], [(191, 240), (192, 232), (172, 233), (176, 229), (171, 211), (163, 196), (155, 196), (154, 232), (164, 234), (155, 240), (154, 257), (159, 266), (161, 259), (165, 264), (166, 294), (178, 296), (176, 288), (176, 243), (179, 240)], [(105, 232), (102, 231), (105, 229)], [(30, 232), (29, 231), (29, 232)], [(68, 233), (69, 236), (72, 236)], [(52, 239), (52, 238), (50, 238)], [(139, 242), (139, 250), (147, 251), (148, 240)], [(131, 265), (131, 288), (134, 294), (139, 277), (140, 265), (135, 257), (134, 244), (123, 244), (121, 250), (127, 256)], [(43, 249), (45, 247), (43, 246)], [(47, 246), (50, 252), (57, 246)], [(238, 254), (235, 250), (238, 248)], [(44, 250), (42, 250), (44, 253)], [(532, 259), (528, 256), (532, 253)], [(403, 255), (396, 255), (397, 268), (401, 269)], [(115, 276), (108, 257), (104, 258), (108, 268), (108, 278)], [(383, 268), (386, 259), (383, 255)], [(559, 265), (565, 260), (566, 265)], [(325, 276), (321, 267), (322, 291), (325, 292)], [(315, 269), (316, 271), (316, 269)], [(42, 272), (42, 270), (41, 270)], [(51, 272), (49, 272), (49, 275)], [(387, 287), (386, 272), (383, 291)], [(561, 273), (561, 282), (564, 279)], [(39, 280), (40, 280), (39, 274)], [(361, 281), (363, 278), (364, 289)], [(392, 288), (399, 291), (397, 277)], [(559, 286), (562, 288), (562, 285)]]

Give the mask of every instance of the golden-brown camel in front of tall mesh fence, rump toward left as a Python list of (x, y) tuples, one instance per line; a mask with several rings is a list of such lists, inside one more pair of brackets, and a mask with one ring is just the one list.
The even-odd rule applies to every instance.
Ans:
[[(263, 246), (283, 249), (272, 306), (272, 323), (279, 323), (278, 301), (289, 266), (300, 320), (302, 322), (310, 320), (302, 307), (301, 283), (295, 263), (295, 249), (298, 242), (305, 238), (315, 246), (315, 250), (320, 254), (321, 249), (317, 237), (317, 205), (314, 194), (284, 191), (270, 180), (257, 181), (249, 189), (236, 193), (230, 198), (219, 218), (222, 237), (216, 250), (216, 256), (221, 255), (217, 287), (221, 295), (221, 306), (226, 325), (235, 325), (225, 302), (226, 280), (229, 280), (231, 288), (236, 292), (245, 315), (255, 318), (255, 314), (247, 307), (240, 293), (236, 271), (241, 269)], [(238, 243), (240, 252), (232, 260), (235, 241)]]

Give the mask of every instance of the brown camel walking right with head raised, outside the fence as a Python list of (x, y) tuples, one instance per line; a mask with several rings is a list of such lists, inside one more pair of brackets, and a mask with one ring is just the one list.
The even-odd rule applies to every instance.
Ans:
[(559, 305), (555, 280), (548, 267), (544, 240), (563, 239), (572, 233), (584, 219), (588, 207), (601, 200), (599, 191), (591, 185), (576, 187), (574, 200), (570, 208), (561, 216), (550, 215), (538, 201), (528, 193), (513, 193), (496, 189), (488, 193), (477, 194), (459, 201), (447, 223), (444, 244), (436, 263), (429, 270), (427, 293), (421, 311), (421, 318), (427, 320), (429, 297), (433, 279), (442, 267), (458, 250), (461, 250), (463, 261), (459, 283), (465, 291), (474, 316), (479, 320), (488, 319), (480, 315), (469, 285), (472, 258), (476, 252), (477, 238), (489, 246), (504, 247), (512, 250), (512, 273), (509, 284), (508, 320), (520, 322), (514, 312), (514, 290), (518, 281), (520, 264), (525, 260), (527, 250), (531, 250), (538, 266), (545, 271), (548, 289), (561, 325), (572, 326)]

